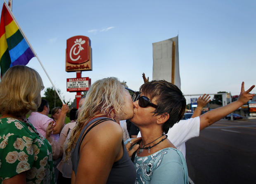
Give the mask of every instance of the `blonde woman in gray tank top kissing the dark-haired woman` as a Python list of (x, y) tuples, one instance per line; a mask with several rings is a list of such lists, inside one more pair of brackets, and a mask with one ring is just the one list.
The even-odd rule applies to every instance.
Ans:
[(119, 80), (104, 78), (90, 87), (66, 150), (72, 150), (71, 183), (135, 183), (135, 167), (116, 123), (132, 116), (132, 98)]

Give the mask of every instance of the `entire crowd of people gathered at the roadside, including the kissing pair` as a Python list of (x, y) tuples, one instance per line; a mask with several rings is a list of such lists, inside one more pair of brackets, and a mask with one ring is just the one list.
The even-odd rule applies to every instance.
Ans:
[(97, 80), (78, 109), (63, 104), (48, 117), (38, 72), (9, 68), (0, 81), (0, 182), (188, 184), (185, 142), (254, 97), (254, 85), (245, 91), (242, 83), (237, 101), (201, 114), (205, 94), (192, 118), (181, 120), (180, 89), (143, 79), (137, 93), (114, 77)]

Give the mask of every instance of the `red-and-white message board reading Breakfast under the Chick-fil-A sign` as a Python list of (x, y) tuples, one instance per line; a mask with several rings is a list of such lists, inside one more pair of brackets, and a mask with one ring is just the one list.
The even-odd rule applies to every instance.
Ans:
[(90, 87), (90, 80), (88, 77), (66, 79), (66, 91), (69, 91), (69, 92), (88, 91), (89, 87)]

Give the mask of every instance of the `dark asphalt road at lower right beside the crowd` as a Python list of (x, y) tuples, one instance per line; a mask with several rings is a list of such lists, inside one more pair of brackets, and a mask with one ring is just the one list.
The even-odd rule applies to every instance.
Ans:
[(256, 183), (256, 120), (220, 120), (186, 142), (194, 184)]

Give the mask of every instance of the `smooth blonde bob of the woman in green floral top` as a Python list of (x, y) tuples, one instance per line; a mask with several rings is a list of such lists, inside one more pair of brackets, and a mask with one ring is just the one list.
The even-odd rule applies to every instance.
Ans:
[(0, 82), (0, 113), (20, 117), (36, 111), (42, 89), (43, 81), (37, 71), (27, 66), (12, 66)]

